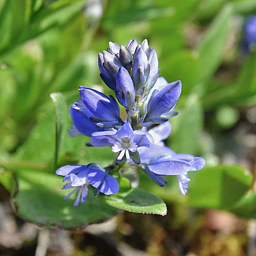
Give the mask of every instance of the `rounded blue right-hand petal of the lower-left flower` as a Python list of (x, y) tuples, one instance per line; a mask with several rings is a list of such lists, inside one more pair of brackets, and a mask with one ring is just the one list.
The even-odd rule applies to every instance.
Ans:
[(111, 175), (102, 172), (102, 170), (91, 169), (89, 172), (89, 183), (100, 190), (101, 193), (112, 195), (118, 192), (118, 181)]

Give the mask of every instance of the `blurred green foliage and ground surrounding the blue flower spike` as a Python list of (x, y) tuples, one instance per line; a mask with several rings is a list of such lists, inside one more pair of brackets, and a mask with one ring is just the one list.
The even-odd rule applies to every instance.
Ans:
[[(243, 49), (251, 14), (255, 0), (0, 1), (0, 254), (256, 255), (256, 51)], [(80, 85), (111, 93), (98, 52), (134, 38), (156, 49), (160, 76), (182, 81), (167, 145), (203, 156), (206, 168), (191, 174), (186, 197), (175, 177), (162, 188), (140, 174), (140, 188), (167, 204), (165, 217), (125, 212), (79, 232), (25, 223), (74, 229), (119, 212), (93, 196), (88, 207), (67, 207), (54, 173), (112, 163), (109, 150), (69, 137), (68, 106)], [(63, 96), (52, 102), (55, 92)]]

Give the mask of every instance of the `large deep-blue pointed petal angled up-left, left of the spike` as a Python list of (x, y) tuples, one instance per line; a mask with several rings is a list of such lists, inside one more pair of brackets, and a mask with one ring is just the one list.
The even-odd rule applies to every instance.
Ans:
[(80, 96), (90, 112), (105, 121), (120, 121), (119, 111), (105, 94), (96, 90), (80, 87)]

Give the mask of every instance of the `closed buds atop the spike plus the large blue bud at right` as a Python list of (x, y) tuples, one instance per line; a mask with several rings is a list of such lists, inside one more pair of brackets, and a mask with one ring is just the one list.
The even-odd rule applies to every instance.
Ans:
[(100, 76), (116, 94), (135, 130), (176, 116), (173, 111), (181, 94), (181, 82), (158, 79), (158, 57), (147, 40), (140, 45), (130, 40), (127, 46), (110, 42), (108, 51), (99, 53)]

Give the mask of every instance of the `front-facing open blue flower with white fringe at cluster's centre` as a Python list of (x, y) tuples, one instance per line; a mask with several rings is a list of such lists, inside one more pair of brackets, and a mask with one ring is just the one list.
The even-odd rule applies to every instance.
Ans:
[(130, 123), (123, 124), (118, 130), (93, 133), (91, 144), (112, 146), (114, 153), (120, 152), (116, 160), (117, 164), (131, 159), (134, 163), (140, 164), (138, 148), (154, 148), (153, 137), (146, 131), (133, 131)]

